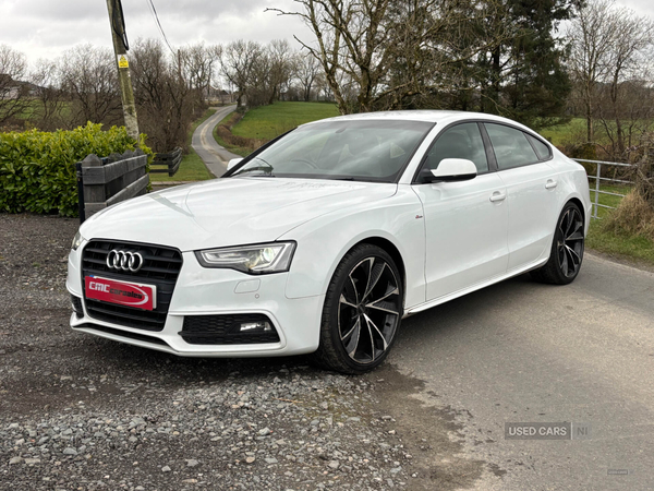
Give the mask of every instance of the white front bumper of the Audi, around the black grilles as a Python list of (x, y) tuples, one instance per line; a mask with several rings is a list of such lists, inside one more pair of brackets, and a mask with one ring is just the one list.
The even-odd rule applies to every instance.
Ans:
[[(69, 255), (66, 288), (82, 299), (83, 315), (71, 315), (71, 327), (144, 348), (183, 357), (270, 357), (313, 352), (318, 347), (324, 296), (286, 297), (289, 273), (251, 276), (232, 270), (205, 268), (192, 252), (183, 265), (164, 328), (144, 331), (88, 315), (84, 301), (81, 256), (84, 244)], [(180, 332), (186, 315), (264, 314), (279, 335), (278, 343), (194, 345)]]

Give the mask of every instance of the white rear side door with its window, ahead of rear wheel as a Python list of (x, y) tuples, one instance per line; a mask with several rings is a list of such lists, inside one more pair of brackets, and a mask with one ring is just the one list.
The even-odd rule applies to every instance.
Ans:
[(546, 258), (558, 216), (549, 147), (517, 128), (485, 122), (509, 208), (508, 271)]

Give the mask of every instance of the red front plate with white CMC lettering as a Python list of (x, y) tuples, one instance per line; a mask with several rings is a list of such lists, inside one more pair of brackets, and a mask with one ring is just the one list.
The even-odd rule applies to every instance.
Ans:
[(86, 298), (136, 309), (154, 310), (157, 307), (157, 287), (117, 279), (85, 276)]

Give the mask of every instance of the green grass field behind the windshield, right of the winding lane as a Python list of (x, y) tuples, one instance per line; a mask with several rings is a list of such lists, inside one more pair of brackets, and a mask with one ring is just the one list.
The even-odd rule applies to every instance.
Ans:
[(232, 133), (250, 139), (272, 140), (300, 124), (334, 116), (339, 116), (335, 104), (275, 103), (249, 110), (232, 128)]

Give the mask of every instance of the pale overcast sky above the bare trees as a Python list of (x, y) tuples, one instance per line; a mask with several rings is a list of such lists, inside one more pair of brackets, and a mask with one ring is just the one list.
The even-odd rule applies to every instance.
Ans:
[[(292, 10), (292, 0), (153, 0), (173, 47), (233, 39), (269, 41), (293, 35), (313, 37), (295, 17), (264, 12), (268, 7)], [(654, 19), (654, 1), (619, 0), (640, 15)], [(129, 38), (160, 37), (148, 0), (123, 0)], [(111, 46), (106, 0), (0, 0), (0, 44), (24, 52), (31, 62), (56, 58), (82, 43)]]

